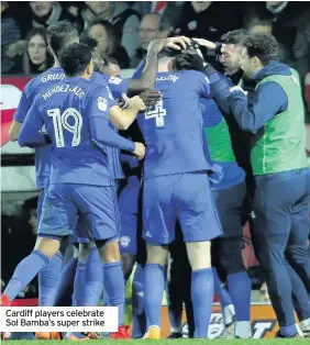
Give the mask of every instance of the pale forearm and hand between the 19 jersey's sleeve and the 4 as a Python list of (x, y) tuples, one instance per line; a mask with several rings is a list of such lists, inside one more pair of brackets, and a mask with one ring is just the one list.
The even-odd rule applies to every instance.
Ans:
[(137, 113), (145, 109), (145, 105), (139, 96), (128, 99), (126, 96), (123, 94), (123, 98), (129, 104), (128, 108), (121, 109), (119, 105), (114, 105), (110, 109), (109, 115), (110, 121), (117, 129), (125, 131), (136, 119)]

